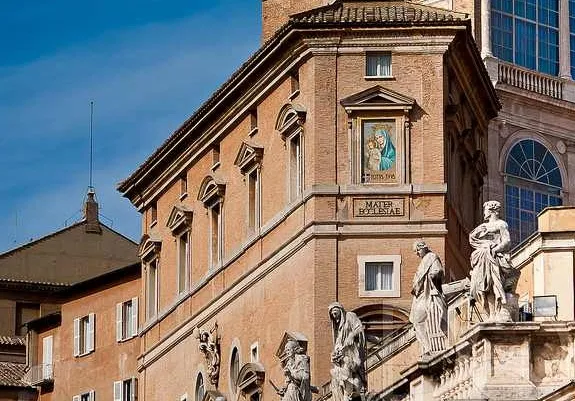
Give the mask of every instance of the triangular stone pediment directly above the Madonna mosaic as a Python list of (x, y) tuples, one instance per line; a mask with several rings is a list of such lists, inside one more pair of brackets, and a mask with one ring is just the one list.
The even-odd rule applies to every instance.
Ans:
[(354, 110), (410, 110), (415, 105), (415, 100), (376, 85), (342, 99), (341, 105), (348, 113)]

